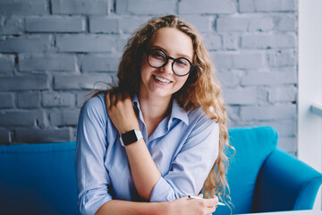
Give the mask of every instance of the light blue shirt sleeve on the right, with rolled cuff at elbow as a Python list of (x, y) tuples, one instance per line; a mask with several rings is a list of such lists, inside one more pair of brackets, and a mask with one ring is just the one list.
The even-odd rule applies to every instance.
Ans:
[(197, 195), (215, 163), (218, 143), (218, 124), (203, 117), (194, 126), (170, 171), (157, 181), (150, 202), (168, 202), (188, 194)]

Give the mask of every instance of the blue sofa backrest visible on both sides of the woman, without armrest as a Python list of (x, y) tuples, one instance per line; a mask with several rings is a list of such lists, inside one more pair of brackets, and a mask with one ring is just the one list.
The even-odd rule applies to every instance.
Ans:
[[(233, 128), (229, 136), (236, 150), (227, 174), (232, 209), (246, 213), (252, 210), (258, 172), (275, 149), (277, 133), (271, 127)], [(0, 214), (80, 214), (75, 146), (75, 142), (0, 146)], [(223, 206), (216, 211), (230, 213)]]

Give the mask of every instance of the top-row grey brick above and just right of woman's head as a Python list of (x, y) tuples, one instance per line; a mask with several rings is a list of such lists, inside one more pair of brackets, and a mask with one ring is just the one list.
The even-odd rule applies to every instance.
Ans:
[(179, 2), (179, 14), (191, 13), (234, 13), (236, 5), (232, 0), (182, 0)]

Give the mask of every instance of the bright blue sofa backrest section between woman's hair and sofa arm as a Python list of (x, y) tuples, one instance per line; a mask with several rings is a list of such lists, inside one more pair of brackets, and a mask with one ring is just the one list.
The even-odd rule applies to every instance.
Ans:
[[(268, 126), (233, 128), (228, 133), (230, 144), (235, 148), (227, 173), (233, 214), (250, 213), (259, 170), (267, 156), (275, 150), (277, 133)], [(228, 150), (227, 154), (233, 154), (233, 150)], [(228, 207), (220, 206), (215, 214), (230, 213)]]

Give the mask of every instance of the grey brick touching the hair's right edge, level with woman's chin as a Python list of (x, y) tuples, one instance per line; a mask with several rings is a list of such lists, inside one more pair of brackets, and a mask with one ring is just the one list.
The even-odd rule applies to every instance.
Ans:
[(225, 103), (228, 105), (256, 105), (257, 90), (255, 88), (224, 89)]

